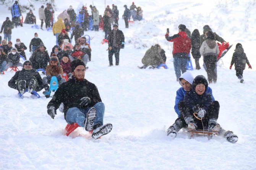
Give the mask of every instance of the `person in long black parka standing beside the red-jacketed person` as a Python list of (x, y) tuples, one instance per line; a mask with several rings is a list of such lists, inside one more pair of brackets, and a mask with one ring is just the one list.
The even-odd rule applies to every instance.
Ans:
[(200, 33), (198, 29), (194, 29), (191, 35), (191, 54), (196, 63), (197, 70), (201, 69), (199, 65), (199, 59), (201, 58), (199, 49), (200, 49)]

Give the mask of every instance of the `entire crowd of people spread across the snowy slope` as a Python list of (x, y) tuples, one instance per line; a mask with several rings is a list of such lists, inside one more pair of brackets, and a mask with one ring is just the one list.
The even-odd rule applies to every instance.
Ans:
[[(27, 47), (19, 38), (16, 38), (15, 47), (12, 46), (11, 42), (11, 29), (13, 29), (13, 24), (18, 26), (17, 18), (21, 14), (18, 2), (15, 2), (12, 6), (13, 22), (7, 17), (1, 28), (1, 33), (4, 32), (4, 40), (0, 45), (0, 74), (9, 67), (23, 67), (8, 82), (8, 85), (18, 90), (21, 95), (26, 91), (31, 93), (42, 89), (45, 90), (44, 94), (48, 94), (50, 80), (53, 76), (57, 77), (59, 88), (47, 106), (48, 114), (54, 119), (56, 110), (63, 104), (66, 122), (78, 123), (79, 126), (85, 127), (86, 131), (92, 131), (92, 138), (97, 139), (108, 134), (112, 130), (112, 124), (103, 124), (104, 103), (100, 99), (97, 87), (84, 79), (84, 73), (88, 69), (86, 64), (91, 61), (92, 49), (83, 34), (84, 31), (89, 30), (89, 18), (92, 19), (92, 30), (98, 31), (103, 25), (104, 38), (108, 40), (109, 44), (109, 66), (113, 66), (113, 55), (115, 55), (115, 65), (119, 65), (119, 53), (120, 49), (124, 48), (125, 36), (122, 30), (118, 29), (119, 11), (117, 6), (113, 4), (112, 9), (110, 9), (108, 5), (103, 17), (99, 15), (95, 6), (90, 5), (89, 7), (91, 8), (91, 15), (89, 15), (87, 7), (83, 6), (76, 16), (75, 11), (70, 6), (68, 10), (64, 10), (58, 15), (55, 22), (52, 5), (47, 3), (46, 8), (42, 5), (39, 8), (41, 29), (44, 21), (46, 28), (52, 27), (53, 35), (56, 36), (56, 45), (49, 55), (41, 38), (38, 37), (37, 33), (34, 33), (34, 38), (29, 44), (29, 51), (32, 55), (29, 61), (22, 64), (20, 58), (27, 59), (24, 52)], [(124, 8), (123, 19), (126, 28), (128, 28), (131, 18), (134, 21), (142, 20), (143, 11), (141, 7), (136, 7), (134, 2), (130, 9), (127, 5), (124, 5)], [(27, 13), (24, 23), (36, 24), (36, 17), (32, 10)], [(72, 31), (71, 37), (69, 37), (68, 31)], [(71, 44), (73, 37), (75, 37), (74, 46)], [(221, 43), (225, 40), (212, 32), (208, 25), (203, 27), (203, 34), (200, 35), (198, 29), (194, 29), (191, 34), (184, 24), (180, 24), (178, 34), (172, 36), (169, 36), (169, 29), (167, 29), (165, 38), (167, 41), (173, 42), (172, 55), (176, 80), (182, 86), (177, 91), (174, 107), (178, 119), (167, 130), (167, 136), (175, 137), (181, 128), (188, 128), (189, 130), (206, 128), (209, 132), (218, 131), (230, 142), (236, 142), (238, 140), (237, 135), (234, 135), (232, 131), (225, 131), (217, 123), (220, 104), (215, 101), (212, 90), (208, 87), (208, 84), (217, 82), (216, 58), (220, 51), (216, 40)], [(199, 58), (203, 56), (208, 82), (203, 75), (193, 78), (191, 73), (186, 71), (187, 61), (190, 60), (190, 51), (195, 59), (196, 69), (201, 69)], [(165, 51), (159, 44), (152, 45), (146, 51), (142, 59), (143, 66), (140, 68), (145, 69), (148, 66), (156, 68), (160, 64), (165, 64), (166, 58)], [(241, 83), (244, 81), (245, 63), (251, 69), (243, 47), (238, 43), (230, 69), (235, 64), (236, 75)], [(36, 71), (37, 69), (44, 69), (45, 77), (41, 78)], [(68, 75), (68, 81), (63, 77), (64, 73)], [(84, 90), (84, 86), (87, 87), (87, 90)], [(67, 94), (65, 96), (63, 96), (64, 90)], [(193, 117), (194, 113), (202, 119), (202, 124), (201, 121)], [(79, 117), (79, 119), (74, 117)]]

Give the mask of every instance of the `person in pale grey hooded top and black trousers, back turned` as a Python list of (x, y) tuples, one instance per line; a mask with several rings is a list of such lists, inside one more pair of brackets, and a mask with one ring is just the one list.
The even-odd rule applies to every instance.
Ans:
[[(215, 71), (215, 65), (217, 62), (217, 56), (220, 53), (219, 47), (215, 42), (214, 34), (211, 31), (207, 32), (207, 38), (202, 43), (199, 51), (203, 56), (204, 64), (206, 66), (206, 72), (209, 83), (217, 82), (217, 70)], [(216, 68), (217, 69), (217, 68)]]

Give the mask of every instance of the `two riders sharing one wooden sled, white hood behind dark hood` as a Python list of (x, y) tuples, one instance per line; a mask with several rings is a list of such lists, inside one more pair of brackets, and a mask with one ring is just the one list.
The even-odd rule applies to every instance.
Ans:
[[(171, 136), (173, 138), (176, 137), (177, 132), (181, 128), (192, 127), (192, 130), (194, 130), (194, 128), (197, 129), (197, 127), (203, 128), (201, 120), (199, 121), (193, 116), (193, 112), (196, 112), (198, 117), (203, 117), (204, 128), (208, 128), (209, 132), (217, 130), (219, 131), (219, 136), (224, 136), (229, 142), (237, 142), (237, 135), (234, 135), (232, 131), (224, 130), (217, 123), (219, 103), (218, 101), (214, 101), (212, 90), (208, 87), (205, 78), (200, 75), (194, 79), (194, 82), (193, 79), (194, 78), (190, 72), (185, 72), (179, 79), (182, 87), (177, 90), (174, 106), (175, 112), (178, 114), (178, 119), (176, 119), (175, 123), (168, 128), (167, 136)], [(199, 85), (204, 86), (203, 89), (201, 89), (201, 87), (198, 88)], [(194, 107), (197, 104), (199, 104), (199, 109)], [(192, 109), (189, 106), (191, 106)], [(208, 109), (206, 109), (206, 107), (208, 107)]]

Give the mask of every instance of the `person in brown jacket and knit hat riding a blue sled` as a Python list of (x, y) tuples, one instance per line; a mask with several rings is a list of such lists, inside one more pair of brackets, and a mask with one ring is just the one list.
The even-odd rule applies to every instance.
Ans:
[[(58, 57), (53, 54), (50, 58), (49, 65), (46, 67), (46, 77), (43, 77), (43, 84), (49, 84), (52, 76), (56, 76), (58, 80), (58, 85), (62, 84), (66, 80), (62, 78), (63, 69), (62, 66), (60, 66), (60, 62), (58, 60)], [(46, 91), (49, 91), (49, 89), (45, 89), (44, 93)]]

